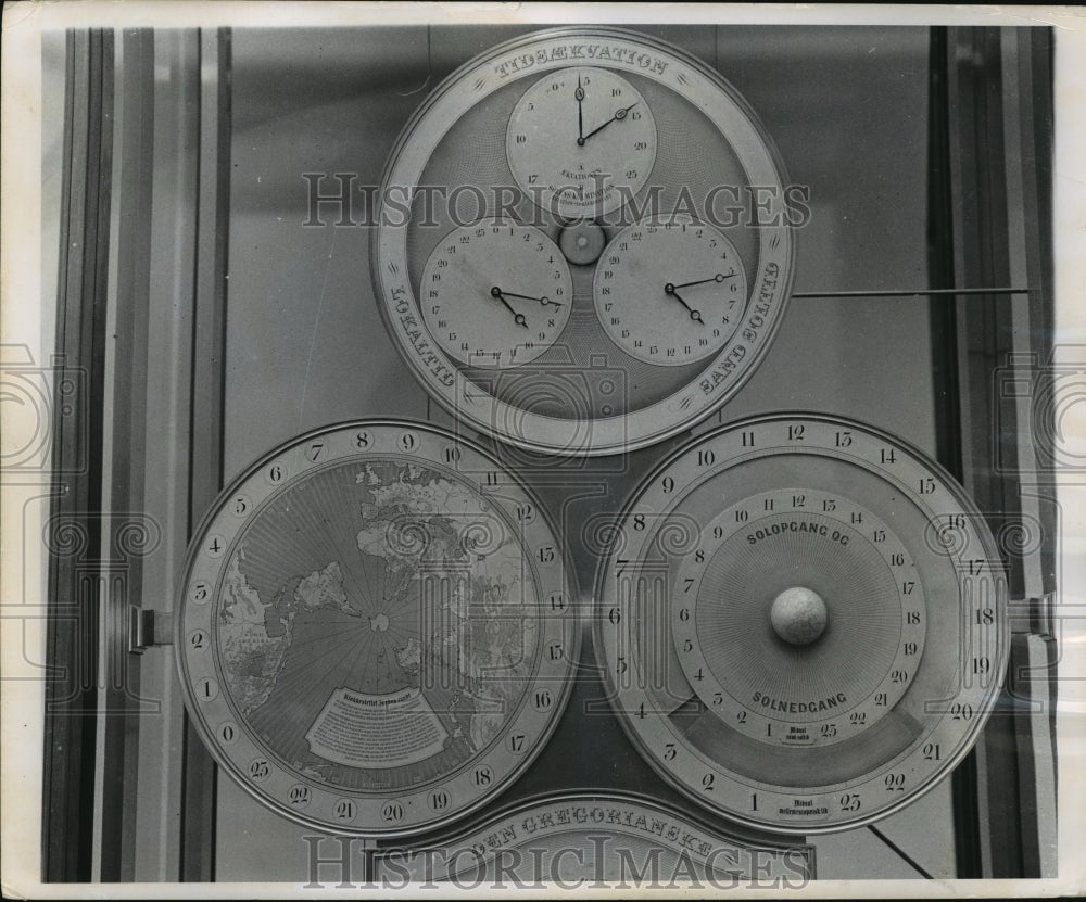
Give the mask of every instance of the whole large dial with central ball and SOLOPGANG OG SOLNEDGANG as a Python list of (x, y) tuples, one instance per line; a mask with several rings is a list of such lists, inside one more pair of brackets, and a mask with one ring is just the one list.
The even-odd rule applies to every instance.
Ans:
[(869, 425), (781, 414), (660, 463), (597, 570), (595, 645), (647, 761), (706, 809), (793, 834), (946, 776), (1006, 670), (1007, 581), (954, 479)]

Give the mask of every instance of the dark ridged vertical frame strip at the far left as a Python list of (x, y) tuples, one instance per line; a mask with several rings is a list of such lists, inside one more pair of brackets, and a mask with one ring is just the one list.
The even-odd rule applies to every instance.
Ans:
[[(93, 872), (98, 710), (97, 593), (91, 560), (101, 544), (104, 325), (112, 169), (112, 34), (71, 31), (66, 41), (64, 175), (56, 350), (77, 368), (85, 403), (53, 422), (54, 500), (49, 559), (42, 878)], [(86, 457), (80, 459), (80, 455)], [(61, 545), (66, 554), (59, 554)], [(88, 558), (89, 551), (89, 558)]]

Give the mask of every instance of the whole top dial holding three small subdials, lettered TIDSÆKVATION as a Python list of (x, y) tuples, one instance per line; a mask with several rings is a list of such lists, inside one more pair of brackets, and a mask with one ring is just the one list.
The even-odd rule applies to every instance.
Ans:
[(397, 347), (460, 422), (522, 448), (689, 429), (784, 314), (794, 212), (768, 136), (718, 73), (641, 35), (476, 58), (407, 124), (382, 189), (371, 270)]

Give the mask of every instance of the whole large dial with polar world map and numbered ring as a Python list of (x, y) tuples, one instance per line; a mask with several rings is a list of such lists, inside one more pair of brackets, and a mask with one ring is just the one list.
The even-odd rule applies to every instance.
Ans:
[(479, 448), (414, 422), (313, 432), (242, 474), (192, 542), (186, 701), (280, 814), (431, 828), (545, 742), (577, 660), (573, 597), (543, 511)]

